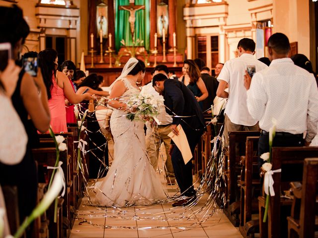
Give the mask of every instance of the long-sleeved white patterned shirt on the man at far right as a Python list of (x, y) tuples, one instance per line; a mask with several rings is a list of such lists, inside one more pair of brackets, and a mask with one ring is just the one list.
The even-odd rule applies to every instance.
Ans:
[(306, 141), (317, 134), (318, 89), (315, 77), (290, 58), (273, 60), (268, 68), (254, 74), (247, 91), (250, 115), (259, 127), (269, 131), (272, 118), (276, 131), (301, 134)]

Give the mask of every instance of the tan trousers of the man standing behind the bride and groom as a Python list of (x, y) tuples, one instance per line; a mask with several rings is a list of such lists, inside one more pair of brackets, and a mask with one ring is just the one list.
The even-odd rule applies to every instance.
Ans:
[(174, 177), (173, 166), (171, 162), (171, 156), (169, 155), (169, 147), (171, 138), (168, 134), (171, 132), (170, 124), (169, 125), (158, 125), (155, 127), (151, 127), (150, 123), (146, 123), (147, 131), (146, 131), (146, 149), (150, 159), (150, 163), (154, 167), (155, 170), (158, 168), (158, 159), (159, 159), (159, 149), (161, 143), (163, 142), (166, 161), (164, 163), (164, 171), (166, 176)]

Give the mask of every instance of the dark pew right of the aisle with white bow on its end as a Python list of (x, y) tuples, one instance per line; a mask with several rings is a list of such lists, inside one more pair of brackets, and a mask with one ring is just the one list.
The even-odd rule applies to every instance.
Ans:
[[(290, 211), (292, 199), (281, 198), (281, 191), (289, 189), (292, 181), (303, 178), (303, 164), (305, 158), (318, 157), (318, 147), (273, 147), (272, 170), (282, 169), (281, 173), (274, 173), (275, 196), (270, 196), (270, 206), (266, 223), (263, 223), (266, 194), (258, 197), (260, 237), (281, 238), (287, 236), (287, 216), (281, 214), (281, 208)], [(285, 224), (286, 222), (286, 224)]]

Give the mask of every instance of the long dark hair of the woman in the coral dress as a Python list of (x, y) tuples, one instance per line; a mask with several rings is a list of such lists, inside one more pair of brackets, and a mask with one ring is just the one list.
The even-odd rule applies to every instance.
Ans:
[(45, 49), (39, 53), (39, 66), (41, 67), (42, 77), (46, 86), (48, 99), (52, 97), (51, 90), (53, 88), (53, 75), (56, 75), (55, 60), (58, 53), (54, 49)]

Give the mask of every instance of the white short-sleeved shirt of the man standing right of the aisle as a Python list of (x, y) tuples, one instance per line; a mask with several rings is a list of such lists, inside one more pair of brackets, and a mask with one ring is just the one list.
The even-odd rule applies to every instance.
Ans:
[(225, 62), (218, 76), (218, 81), (224, 80), (229, 84), (229, 100), (225, 114), (235, 124), (251, 126), (255, 125), (258, 120), (253, 119), (247, 110), (247, 96), (244, 87), (244, 74), (247, 65), (255, 65), (256, 72), (267, 67), (251, 54), (242, 54), (239, 58)]

